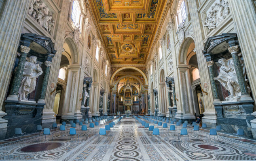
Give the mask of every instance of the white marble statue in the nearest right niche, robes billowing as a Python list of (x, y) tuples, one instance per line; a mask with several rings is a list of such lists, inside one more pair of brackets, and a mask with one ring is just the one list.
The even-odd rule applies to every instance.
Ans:
[(230, 93), (226, 100), (239, 99), (241, 97), (241, 91), (235, 72), (235, 66), (233, 60), (227, 61), (225, 58), (218, 60), (220, 63), (220, 72), (214, 80), (217, 80), (221, 85)]

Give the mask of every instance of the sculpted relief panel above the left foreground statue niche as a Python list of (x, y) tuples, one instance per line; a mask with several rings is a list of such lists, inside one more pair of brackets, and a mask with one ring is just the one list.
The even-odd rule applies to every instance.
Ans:
[(44, 4), (44, 2), (42, 2), (42, 0), (32, 0), (28, 14), (33, 17), (48, 33), (51, 32), (55, 23), (53, 20), (53, 13)]

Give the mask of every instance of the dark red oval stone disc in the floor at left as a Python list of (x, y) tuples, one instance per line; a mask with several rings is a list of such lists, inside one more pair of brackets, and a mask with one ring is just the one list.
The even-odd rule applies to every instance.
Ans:
[(32, 144), (27, 147), (20, 149), (22, 152), (40, 152), (49, 151), (61, 147), (63, 144), (61, 142), (44, 142), (39, 144)]

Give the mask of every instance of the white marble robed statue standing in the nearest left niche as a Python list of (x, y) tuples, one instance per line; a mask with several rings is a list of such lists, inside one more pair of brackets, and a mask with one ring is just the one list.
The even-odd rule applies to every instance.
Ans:
[(36, 89), (36, 78), (43, 73), (40, 65), (36, 64), (36, 60), (36, 56), (30, 56), (29, 60), (25, 62), (23, 78), (19, 87), (19, 100), (28, 100), (28, 94)]

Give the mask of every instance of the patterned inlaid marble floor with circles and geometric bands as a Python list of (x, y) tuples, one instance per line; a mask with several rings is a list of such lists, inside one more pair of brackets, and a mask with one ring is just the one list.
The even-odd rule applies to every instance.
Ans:
[(53, 136), (47, 136), (46, 140), (39, 133), (14, 138), (12, 142), (11, 139), (1, 140), (0, 161), (256, 160), (256, 140), (222, 134), (218, 136), (220, 142), (211, 141), (206, 139), (208, 130), (201, 129), (199, 133), (194, 133), (191, 127), (188, 127), (189, 141), (184, 138), (178, 140), (178, 132), (166, 132), (161, 128), (160, 132), (159, 141), (133, 118), (124, 118), (114, 132), (108, 132), (107, 139), (106, 136), (98, 137), (97, 128), (95, 132), (93, 129), (90, 132), (78, 130), (79, 137), (76, 135), (71, 139), (64, 132), (52, 130)]

